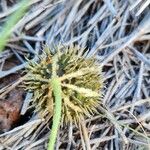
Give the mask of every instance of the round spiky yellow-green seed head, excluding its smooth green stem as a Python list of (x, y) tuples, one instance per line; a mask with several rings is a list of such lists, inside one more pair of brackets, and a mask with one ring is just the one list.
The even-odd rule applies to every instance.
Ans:
[(52, 58), (57, 58), (56, 73), (62, 88), (62, 122), (78, 123), (97, 113), (101, 103), (103, 80), (101, 68), (94, 58), (86, 58), (84, 50), (56, 48), (56, 53), (45, 49), (38, 62), (30, 62), (26, 72), (26, 89), (33, 92), (35, 110), (43, 117), (53, 116), (54, 96), (51, 87)]

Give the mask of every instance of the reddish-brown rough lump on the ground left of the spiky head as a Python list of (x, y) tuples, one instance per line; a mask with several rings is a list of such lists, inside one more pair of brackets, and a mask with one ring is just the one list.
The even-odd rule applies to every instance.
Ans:
[(23, 103), (23, 89), (14, 88), (7, 97), (0, 99), (0, 132), (10, 130), (20, 118), (20, 109)]

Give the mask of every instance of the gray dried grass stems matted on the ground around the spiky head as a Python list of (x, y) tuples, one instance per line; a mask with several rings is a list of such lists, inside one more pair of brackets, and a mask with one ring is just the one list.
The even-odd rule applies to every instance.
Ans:
[[(1, 1), (1, 25), (17, 8), (15, 2), (11, 6), (7, 2)], [(103, 103), (113, 117), (106, 114), (88, 118), (84, 122), (88, 137), (73, 124), (60, 129), (56, 149), (86, 149), (86, 144), (92, 150), (149, 148), (149, 4), (150, 0), (33, 0), (29, 11), (14, 27), (5, 51), (0, 54), (0, 78), (23, 69), (27, 64), (24, 57), (34, 56), (36, 60), (43, 43), (51, 48), (60, 43), (86, 47), (88, 57), (95, 55), (103, 67)], [(3, 71), (12, 55), (20, 65)], [(0, 89), (0, 94), (21, 81), (22, 78)], [(22, 114), (29, 109), (31, 97), (27, 93)], [(33, 114), (24, 125), (0, 135), (0, 149), (46, 149), (48, 122)]]

